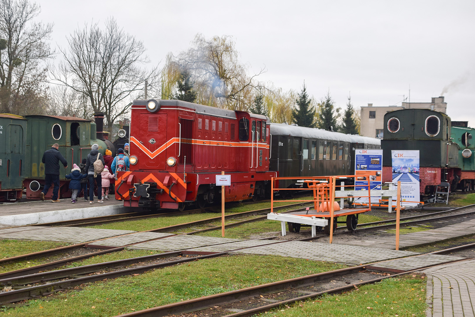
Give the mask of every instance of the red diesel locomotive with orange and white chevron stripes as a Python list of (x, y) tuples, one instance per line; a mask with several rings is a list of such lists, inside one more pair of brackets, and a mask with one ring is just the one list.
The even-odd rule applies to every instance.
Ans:
[(124, 206), (182, 210), (217, 198), (216, 175), (231, 175), (226, 202), (270, 194), (269, 119), (180, 100), (134, 100), (130, 171), (118, 172)]

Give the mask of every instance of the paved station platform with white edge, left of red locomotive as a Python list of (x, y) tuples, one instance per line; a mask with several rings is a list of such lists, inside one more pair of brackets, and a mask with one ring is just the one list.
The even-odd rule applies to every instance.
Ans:
[(97, 203), (97, 197), (94, 204), (85, 202), (84, 198), (78, 199), (76, 203), (71, 203), (70, 198), (61, 199), (60, 202), (45, 200), (43, 202), (3, 203), (0, 204), (0, 228), (99, 217), (132, 211), (136, 210), (123, 207), (123, 202), (115, 199)]

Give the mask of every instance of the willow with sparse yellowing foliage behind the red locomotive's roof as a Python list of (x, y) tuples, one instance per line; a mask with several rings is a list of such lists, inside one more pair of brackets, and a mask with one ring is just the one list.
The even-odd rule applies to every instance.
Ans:
[[(176, 81), (180, 72), (186, 71), (191, 75), (193, 89), (198, 93), (196, 102), (233, 110), (247, 110), (256, 94), (255, 77), (264, 70), (249, 76), (247, 65), (238, 60), (231, 37), (215, 36), (207, 39), (197, 34), (192, 45), (177, 57), (167, 57), (162, 78)], [(172, 85), (165, 83), (163, 88), (166, 88), (166, 95), (174, 94)]]

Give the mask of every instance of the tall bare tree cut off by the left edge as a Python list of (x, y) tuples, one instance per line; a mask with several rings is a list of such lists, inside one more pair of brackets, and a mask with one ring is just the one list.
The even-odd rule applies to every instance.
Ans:
[(45, 105), (53, 25), (33, 22), (39, 12), (28, 0), (0, 0), (0, 112), (24, 115)]

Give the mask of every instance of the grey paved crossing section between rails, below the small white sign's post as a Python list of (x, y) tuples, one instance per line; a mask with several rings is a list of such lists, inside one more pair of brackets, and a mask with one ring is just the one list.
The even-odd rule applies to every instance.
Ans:
[(238, 239), (204, 236), (179, 235), (133, 245), (133, 249), (151, 249), (163, 251), (186, 250), (214, 244), (242, 241)]

